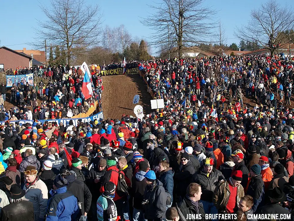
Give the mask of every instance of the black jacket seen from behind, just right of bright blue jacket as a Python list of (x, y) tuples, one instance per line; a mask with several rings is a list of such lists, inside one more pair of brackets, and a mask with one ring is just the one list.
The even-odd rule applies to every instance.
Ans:
[[(80, 212), (78, 217), (83, 216), (85, 212), (89, 212), (92, 201), (92, 194), (84, 182), (76, 180), (74, 175), (66, 176), (69, 185), (66, 189), (70, 191), (78, 200), (78, 207)], [(99, 191), (97, 189), (97, 191)]]

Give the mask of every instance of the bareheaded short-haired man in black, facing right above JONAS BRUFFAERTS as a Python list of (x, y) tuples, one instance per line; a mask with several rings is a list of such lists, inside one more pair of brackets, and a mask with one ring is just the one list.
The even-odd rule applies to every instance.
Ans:
[[(187, 194), (181, 202), (176, 203), (180, 220), (205, 220), (203, 204), (200, 202), (201, 186), (197, 183), (189, 184)], [(189, 214), (195, 214), (195, 219), (190, 219)]]

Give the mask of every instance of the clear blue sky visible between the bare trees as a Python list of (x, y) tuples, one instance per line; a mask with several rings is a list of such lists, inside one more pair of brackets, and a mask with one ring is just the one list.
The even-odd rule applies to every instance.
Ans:
[[(151, 30), (144, 27), (139, 22), (139, 17), (145, 17), (149, 9), (146, 4), (152, 4), (152, 1), (145, 0), (85, 0), (89, 4), (98, 4), (104, 11), (103, 20), (110, 27), (124, 24), (132, 36), (148, 37)], [(155, 0), (160, 1), (160, 0)], [(42, 4), (49, 4), (49, 0), (41, 0)], [(258, 7), (266, 0), (206, 0), (206, 4), (210, 4), (212, 8), (219, 10), (218, 17), (226, 29), (228, 44), (235, 42), (237, 45), (239, 40), (233, 35), (235, 26), (247, 23), (250, 18), (250, 10)], [(293, 0), (280, 1), (280, 4), (294, 5)], [(38, 7), (38, 1), (1, 1), (0, 20), (2, 34), (0, 35), (1, 45), (7, 46), (14, 50), (21, 50), (23, 47), (33, 49), (27, 42), (34, 42), (34, 32), (31, 27), (37, 25), (36, 19), (46, 20), (42, 11)], [(103, 27), (101, 27), (103, 31)], [(153, 52), (154, 53), (154, 52)]]

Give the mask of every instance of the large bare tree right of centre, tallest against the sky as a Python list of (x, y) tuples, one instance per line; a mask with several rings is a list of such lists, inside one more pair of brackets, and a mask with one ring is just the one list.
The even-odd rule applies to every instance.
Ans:
[[(149, 43), (177, 47), (178, 57), (184, 48), (206, 42), (213, 33), (216, 11), (204, 6), (204, 0), (161, 0), (149, 5), (151, 13), (141, 23), (153, 29)], [(159, 47), (158, 47), (159, 46)]]

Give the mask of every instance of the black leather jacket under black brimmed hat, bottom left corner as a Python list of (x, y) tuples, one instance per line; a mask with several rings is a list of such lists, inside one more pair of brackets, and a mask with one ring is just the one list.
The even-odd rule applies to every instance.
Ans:
[(10, 203), (1, 210), (1, 221), (26, 220), (34, 221), (33, 203), (30, 201), (21, 201)]

